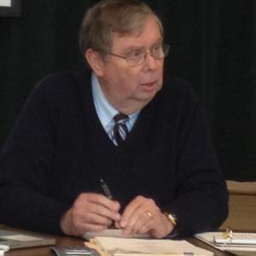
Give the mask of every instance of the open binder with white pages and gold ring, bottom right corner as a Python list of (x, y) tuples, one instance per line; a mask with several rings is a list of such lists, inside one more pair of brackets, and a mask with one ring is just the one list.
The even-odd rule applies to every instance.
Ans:
[(206, 232), (195, 235), (201, 241), (222, 251), (236, 255), (256, 255), (256, 233), (233, 232), (230, 239), (224, 232)]

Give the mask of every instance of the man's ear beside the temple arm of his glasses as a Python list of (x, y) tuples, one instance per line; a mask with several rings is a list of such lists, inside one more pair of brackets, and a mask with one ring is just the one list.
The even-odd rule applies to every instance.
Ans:
[(84, 55), (94, 73), (96, 73), (98, 77), (101, 77), (103, 74), (103, 67), (105, 65), (102, 60), (102, 56), (91, 48), (86, 49)]

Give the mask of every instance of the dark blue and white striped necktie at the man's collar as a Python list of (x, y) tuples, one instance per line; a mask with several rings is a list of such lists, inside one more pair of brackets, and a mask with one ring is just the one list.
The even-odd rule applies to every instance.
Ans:
[(114, 125), (112, 131), (113, 143), (119, 146), (125, 141), (129, 131), (125, 123), (129, 120), (129, 116), (124, 113), (118, 113), (113, 117)]

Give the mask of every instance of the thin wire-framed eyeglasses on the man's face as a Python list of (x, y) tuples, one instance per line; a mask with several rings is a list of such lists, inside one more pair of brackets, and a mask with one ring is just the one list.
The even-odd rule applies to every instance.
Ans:
[(169, 54), (170, 45), (169, 44), (158, 44), (151, 49), (134, 49), (131, 50), (127, 55), (116, 55), (112, 52), (108, 52), (109, 55), (113, 55), (119, 58), (123, 58), (127, 61), (130, 67), (135, 67), (142, 65), (146, 61), (148, 53), (155, 60), (162, 60)]

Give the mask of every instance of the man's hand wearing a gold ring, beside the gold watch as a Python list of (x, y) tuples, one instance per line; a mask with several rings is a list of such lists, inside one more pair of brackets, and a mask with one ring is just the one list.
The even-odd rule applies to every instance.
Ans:
[(115, 225), (124, 229), (124, 236), (146, 234), (155, 238), (169, 235), (174, 226), (160, 212), (154, 200), (138, 195), (125, 207), (125, 211)]

